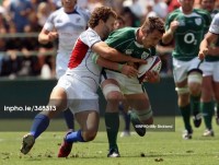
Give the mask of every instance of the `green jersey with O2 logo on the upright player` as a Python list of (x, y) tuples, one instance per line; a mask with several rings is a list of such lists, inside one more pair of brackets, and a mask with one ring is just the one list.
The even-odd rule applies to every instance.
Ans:
[(198, 55), (199, 44), (210, 25), (210, 14), (204, 10), (194, 9), (186, 15), (181, 8), (176, 9), (165, 20), (166, 31), (174, 20), (178, 21), (180, 25), (174, 33), (175, 47), (172, 56), (178, 60), (189, 61)]

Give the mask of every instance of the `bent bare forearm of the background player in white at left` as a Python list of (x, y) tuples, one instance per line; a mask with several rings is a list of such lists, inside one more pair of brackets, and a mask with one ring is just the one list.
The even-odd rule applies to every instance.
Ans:
[(38, 42), (41, 44), (48, 44), (49, 42), (54, 42), (58, 37), (58, 33), (56, 31), (49, 32), (43, 28), (38, 35)]

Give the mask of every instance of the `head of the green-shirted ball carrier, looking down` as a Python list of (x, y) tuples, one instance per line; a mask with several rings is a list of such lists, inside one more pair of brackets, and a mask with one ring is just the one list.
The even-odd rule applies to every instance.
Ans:
[(147, 17), (140, 27), (139, 38), (145, 48), (155, 46), (163, 36), (164, 22), (162, 19), (157, 16)]

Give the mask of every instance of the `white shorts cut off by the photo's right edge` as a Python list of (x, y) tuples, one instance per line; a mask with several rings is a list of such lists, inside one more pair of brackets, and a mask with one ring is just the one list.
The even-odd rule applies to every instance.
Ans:
[(203, 70), (203, 76), (212, 75), (212, 80), (219, 82), (219, 61), (204, 61), (200, 69)]

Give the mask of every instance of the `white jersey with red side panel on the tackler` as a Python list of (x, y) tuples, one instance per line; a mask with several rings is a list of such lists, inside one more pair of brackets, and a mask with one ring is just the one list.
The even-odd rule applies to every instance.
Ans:
[(91, 47), (102, 42), (92, 28), (84, 31), (76, 42), (66, 74), (74, 75), (87, 83), (93, 92), (99, 87), (101, 67), (92, 61)]

